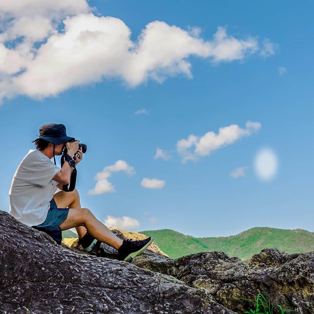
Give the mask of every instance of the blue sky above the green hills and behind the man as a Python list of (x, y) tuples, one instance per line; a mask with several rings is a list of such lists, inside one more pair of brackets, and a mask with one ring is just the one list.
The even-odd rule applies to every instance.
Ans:
[[(23, 11), (32, 17), (32, 1), (25, 3), (29, 10)], [(16, 49), (20, 57), (6, 59), (0, 67), (1, 209), (9, 211), (12, 177), (29, 149), (35, 149), (31, 141), (39, 135), (39, 127), (44, 123), (62, 123), (69, 136), (87, 144), (87, 153), (77, 167), (76, 188), (82, 207), (89, 208), (103, 222), (108, 215), (117, 224), (119, 218), (127, 216), (122, 222), (130, 230), (168, 228), (196, 237), (236, 235), (259, 226), (314, 232), (311, 3), (297, 7), (295, 3), (281, 1), (80, 3), (82, 12), (75, 8), (77, 11), (73, 9), (71, 17), (87, 14), (88, 5), (95, 7), (97, 10), (89, 13), (95, 17), (89, 15), (89, 19), (101, 16), (120, 19), (131, 30), (130, 40), (135, 44), (145, 26), (154, 21), (166, 23), (154, 24), (155, 29), (175, 25), (183, 33), (173, 36), (192, 39), (189, 37), (190, 41), (181, 47), (187, 49), (186, 55), (176, 57), (181, 48), (172, 45), (172, 39), (165, 46), (154, 46), (151, 42), (157, 37), (153, 34), (145, 46), (153, 48), (147, 48), (140, 58), (129, 60), (126, 52), (117, 48), (123, 38), (120, 41), (114, 34), (117, 42), (110, 46), (106, 37), (95, 42), (99, 33), (84, 33), (87, 37), (82, 37), (82, 42), (87, 49), (93, 47), (92, 57), (89, 59), (84, 52), (85, 59), (71, 68), (66, 60), (62, 64), (62, 55), (50, 59), (55, 62), (52, 65), (43, 49), (33, 55), (34, 60), (41, 57), (41, 61), (32, 63), (30, 54), (25, 57), (22, 48), (15, 46), (25, 42), (36, 48), (44, 46), (47, 38), (49, 42), (53, 36), (51, 30), (47, 30), (46, 37), (34, 30), (33, 41), (27, 41), (32, 29), (21, 37), (21, 31), (16, 31), (14, 25), (11, 29), (3, 28), (4, 35), (0, 37), (3, 49)], [(1, 10), (17, 21), (25, 14), (0, 5)], [(51, 10), (45, 7), (42, 16), (51, 16)], [(56, 16), (60, 34), (66, 32), (61, 22), (65, 16)], [(114, 23), (116, 20), (112, 26), (115, 32), (121, 23)], [(73, 32), (77, 31), (76, 25), (70, 25)], [(218, 27), (225, 30), (226, 39), (242, 41), (251, 48), (240, 49), (243, 52), (240, 57), (236, 57), (235, 51), (229, 56), (231, 60), (223, 58), (232, 50), (228, 41), (217, 51), (208, 52), (206, 43), (213, 42)], [(172, 30), (166, 29), (162, 38)], [(39, 38), (41, 41), (36, 42)], [(254, 43), (258, 47), (252, 47)], [(167, 50), (171, 45), (172, 49)], [(104, 46), (110, 49), (96, 55), (95, 50), (102, 51)], [(27, 48), (25, 44), (24, 51)], [(65, 53), (66, 44), (60, 51)], [(106, 53), (113, 54), (108, 64), (102, 59)], [(115, 59), (116, 55), (121, 59)], [(151, 66), (145, 59), (148, 56), (153, 60), (151, 55), (159, 58), (159, 62), (172, 57), (174, 63), (166, 68), (160, 68), (160, 63)], [(191, 65), (190, 74), (184, 61)], [(145, 72), (143, 68), (149, 70)], [(23, 75), (25, 78), (18, 81)], [(43, 77), (47, 82), (41, 85)], [(142, 109), (147, 113), (135, 114)], [(193, 153), (206, 133), (218, 134), (219, 128), (230, 125), (237, 125), (243, 132), (247, 130), (247, 121), (258, 122), (259, 127), (250, 129), (246, 135), (235, 135), (229, 144), (224, 138), (220, 138), (222, 144), (218, 147), (207, 142), (212, 149), (203, 155)], [(182, 163), (176, 144), (191, 134), (197, 140), (190, 152), (198, 159)], [(157, 147), (171, 158), (154, 158)], [(270, 149), (278, 161), (278, 169), (269, 180), (262, 180), (254, 167), (257, 153), (263, 148)], [(60, 166), (60, 158), (56, 160)], [(127, 173), (106, 168), (118, 160), (125, 161), (133, 170)], [(240, 167), (246, 167), (243, 176), (230, 176)], [(114, 185), (114, 191), (106, 192), (103, 188), (99, 194), (90, 194), (97, 182), (96, 174), (108, 169), (111, 176), (107, 181), (111, 187)], [(162, 180), (164, 185), (143, 187), (144, 178)]]

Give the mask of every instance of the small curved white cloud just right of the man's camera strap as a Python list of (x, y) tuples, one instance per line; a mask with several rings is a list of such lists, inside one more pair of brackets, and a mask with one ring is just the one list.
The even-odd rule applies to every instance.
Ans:
[(124, 160), (118, 160), (115, 164), (106, 166), (101, 172), (98, 172), (94, 180), (96, 180), (95, 187), (88, 191), (89, 195), (112, 193), (115, 191), (114, 185), (112, 185), (108, 178), (111, 176), (111, 172), (123, 171), (128, 175), (133, 175), (136, 172), (134, 168), (127, 164)]

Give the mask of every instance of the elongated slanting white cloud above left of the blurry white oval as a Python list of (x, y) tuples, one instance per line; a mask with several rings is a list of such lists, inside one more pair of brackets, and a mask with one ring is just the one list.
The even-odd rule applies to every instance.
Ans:
[[(187, 139), (183, 138), (176, 143), (177, 153), (181, 156), (183, 164), (187, 160), (196, 161), (216, 149), (235, 143), (243, 136), (250, 136), (261, 126), (259, 122), (247, 121), (244, 129), (237, 124), (231, 124), (228, 127), (220, 127), (218, 134), (213, 131), (207, 132), (201, 137), (191, 134)], [(194, 147), (194, 150), (192, 150), (192, 147)]]

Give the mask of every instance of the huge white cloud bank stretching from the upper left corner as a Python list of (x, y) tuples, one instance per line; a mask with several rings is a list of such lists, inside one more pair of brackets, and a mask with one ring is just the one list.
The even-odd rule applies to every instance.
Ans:
[[(131, 87), (179, 74), (192, 78), (190, 56), (231, 62), (259, 49), (256, 38), (237, 39), (224, 27), (206, 41), (198, 27), (183, 30), (162, 21), (147, 24), (132, 41), (121, 19), (95, 16), (92, 10), (85, 0), (1, 3), (0, 43), (10, 45), (0, 49), (0, 100), (17, 95), (43, 99), (106, 78)], [(11, 45), (16, 38), (19, 44)]]

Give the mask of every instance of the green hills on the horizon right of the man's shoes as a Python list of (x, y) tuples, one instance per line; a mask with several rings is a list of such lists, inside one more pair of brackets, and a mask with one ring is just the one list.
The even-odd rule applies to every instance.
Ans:
[(236, 236), (195, 238), (171, 229), (140, 231), (154, 236), (154, 242), (171, 258), (184, 255), (222, 251), (230, 257), (246, 260), (263, 248), (278, 248), (288, 254), (314, 251), (314, 232), (303, 229), (255, 227)]

